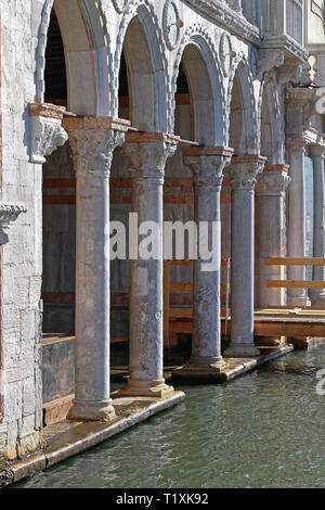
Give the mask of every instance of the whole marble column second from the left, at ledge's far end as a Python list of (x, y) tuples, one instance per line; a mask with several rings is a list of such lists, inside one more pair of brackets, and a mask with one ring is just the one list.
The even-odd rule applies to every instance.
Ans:
[[(128, 133), (123, 154), (132, 173), (132, 212), (139, 228), (144, 222), (158, 227), (156, 256), (131, 260), (130, 378), (117, 396), (164, 397), (173, 392), (164, 379), (164, 254), (162, 191), (165, 165), (179, 138), (164, 133)], [(158, 238), (158, 239), (157, 239)], [(142, 239), (140, 237), (140, 243)], [(135, 257), (134, 257), (135, 258)]]

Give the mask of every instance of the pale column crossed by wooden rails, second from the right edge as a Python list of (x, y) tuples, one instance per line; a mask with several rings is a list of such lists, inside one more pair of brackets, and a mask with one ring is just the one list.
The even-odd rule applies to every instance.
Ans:
[[(306, 140), (303, 138), (287, 140), (289, 176), (291, 183), (287, 201), (287, 256), (306, 257), (306, 180), (304, 156)], [(288, 266), (288, 280), (306, 280), (304, 266)], [(287, 305), (308, 306), (310, 299), (306, 289), (288, 289)]]

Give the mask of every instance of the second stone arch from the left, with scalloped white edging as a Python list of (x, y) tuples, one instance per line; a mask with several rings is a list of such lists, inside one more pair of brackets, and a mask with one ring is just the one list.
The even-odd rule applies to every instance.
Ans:
[[(134, 51), (134, 44), (139, 51)], [(130, 4), (122, 17), (114, 66), (116, 91), (122, 51), (128, 66), (132, 124), (145, 131), (168, 131), (167, 48), (157, 14), (147, 0)], [(117, 115), (117, 93), (112, 101)]]

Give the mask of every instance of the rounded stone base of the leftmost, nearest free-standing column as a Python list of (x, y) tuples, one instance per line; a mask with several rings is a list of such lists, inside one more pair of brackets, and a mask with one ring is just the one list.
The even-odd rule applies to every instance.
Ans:
[(109, 422), (115, 418), (115, 409), (110, 401), (110, 399), (104, 401), (74, 400), (67, 420)]

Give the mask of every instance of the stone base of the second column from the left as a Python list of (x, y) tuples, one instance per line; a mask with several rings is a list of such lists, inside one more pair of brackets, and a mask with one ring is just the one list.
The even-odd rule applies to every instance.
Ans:
[(162, 398), (174, 393), (172, 386), (164, 381), (132, 381), (129, 380), (125, 386), (112, 394), (113, 398), (120, 397), (157, 397)]

